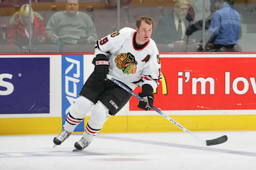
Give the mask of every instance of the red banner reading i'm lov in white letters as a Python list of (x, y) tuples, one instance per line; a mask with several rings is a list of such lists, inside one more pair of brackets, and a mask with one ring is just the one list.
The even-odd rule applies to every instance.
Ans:
[[(256, 109), (256, 57), (163, 57), (161, 64), (154, 106), (162, 111)], [(130, 111), (141, 111), (137, 105), (132, 97)]]

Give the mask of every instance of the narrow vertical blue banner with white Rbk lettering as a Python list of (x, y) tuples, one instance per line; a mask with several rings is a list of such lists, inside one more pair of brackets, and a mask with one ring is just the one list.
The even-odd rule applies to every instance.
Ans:
[[(71, 105), (74, 104), (83, 87), (84, 64), (83, 55), (62, 55), (62, 125)], [(84, 131), (84, 121), (81, 122), (74, 132)]]

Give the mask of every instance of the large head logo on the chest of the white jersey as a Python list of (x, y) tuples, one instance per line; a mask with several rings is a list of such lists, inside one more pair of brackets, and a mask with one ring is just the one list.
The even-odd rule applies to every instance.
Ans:
[(121, 53), (116, 56), (116, 66), (121, 69), (124, 74), (134, 74), (137, 70), (137, 61), (131, 53)]

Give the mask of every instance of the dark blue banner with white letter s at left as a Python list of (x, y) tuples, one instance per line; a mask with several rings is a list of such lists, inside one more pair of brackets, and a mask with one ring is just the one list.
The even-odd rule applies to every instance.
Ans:
[(50, 58), (0, 58), (0, 114), (50, 113)]

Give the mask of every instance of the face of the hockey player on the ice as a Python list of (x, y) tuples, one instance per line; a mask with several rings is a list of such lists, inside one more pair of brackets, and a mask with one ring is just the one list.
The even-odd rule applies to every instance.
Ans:
[(140, 24), (140, 28), (136, 28), (136, 43), (145, 44), (151, 37), (152, 29), (152, 24), (149, 25), (143, 20)]

